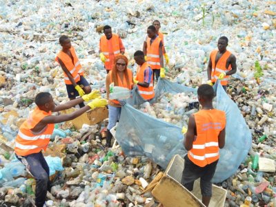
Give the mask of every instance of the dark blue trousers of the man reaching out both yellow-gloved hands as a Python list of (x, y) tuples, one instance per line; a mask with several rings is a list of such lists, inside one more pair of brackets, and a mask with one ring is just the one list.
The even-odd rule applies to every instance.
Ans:
[(35, 188), (35, 205), (42, 207), (46, 201), (47, 190), (50, 190), (49, 167), (44, 159), (42, 152), (27, 156), (17, 156), (17, 158), (26, 166), (28, 171), (37, 181)]

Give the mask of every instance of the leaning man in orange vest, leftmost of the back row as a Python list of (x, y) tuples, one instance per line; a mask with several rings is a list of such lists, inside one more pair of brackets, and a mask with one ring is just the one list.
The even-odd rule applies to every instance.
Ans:
[[(59, 37), (59, 43), (62, 46), (62, 50), (55, 60), (63, 70), (69, 99), (76, 99), (77, 96), (82, 97), (84, 94), (90, 93), (91, 87), (85, 77), (83, 77), (81, 63), (76, 55), (75, 48), (71, 45), (69, 37), (62, 35)], [(79, 107), (83, 106), (84, 103), (79, 103)]]

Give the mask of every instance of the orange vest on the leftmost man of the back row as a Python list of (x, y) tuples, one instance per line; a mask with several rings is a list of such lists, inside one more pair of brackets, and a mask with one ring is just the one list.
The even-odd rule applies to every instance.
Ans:
[[(62, 50), (59, 52), (57, 57), (59, 57), (59, 59), (61, 59), (61, 61), (64, 63), (67, 70), (71, 73), (73, 79), (77, 83), (80, 80), (80, 75), (83, 75), (83, 71), (81, 70), (81, 63), (79, 63), (79, 59), (77, 58), (75, 48), (73, 46), (71, 46), (71, 48), (69, 50), (74, 59), (74, 63), (72, 62), (71, 57), (69, 55), (67, 55), (65, 52), (63, 52)], [(55, 60), (59, 63), (59, 59), (57, 59), (57, 57)], [(63, 74), (64, 74), (64, 82), (67, 85), (72, 85), (70, 79), (68, 78), (68, 76), (66, 75), (66, 73), (64, 71), (63, 71)]]

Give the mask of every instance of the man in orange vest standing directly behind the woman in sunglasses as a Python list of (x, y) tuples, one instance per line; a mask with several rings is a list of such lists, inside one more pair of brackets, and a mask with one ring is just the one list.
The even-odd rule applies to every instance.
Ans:
[(104, 68), (106, 68), (106, 72), (108, 73), (114, 66), (115, 56), (120, 53), (124, 55), (125, 48), (119, 35), (112, 33), (110, 26), (104, 26), (103, 33), (104, 35), (99, 40), (99, 57), (104, 63)]

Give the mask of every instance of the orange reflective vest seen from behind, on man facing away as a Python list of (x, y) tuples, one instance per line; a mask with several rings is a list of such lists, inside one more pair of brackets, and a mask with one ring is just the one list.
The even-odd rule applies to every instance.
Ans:
[(193, 148), (188, 151), (188, 158), (194, 164), (204, 167), (219, 159), (219, 132), (225, 128), (224, 111), (199, 110), (194, 114), (197, 126), (197, 138)]

